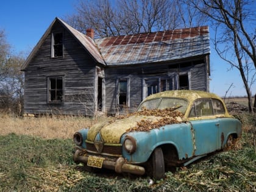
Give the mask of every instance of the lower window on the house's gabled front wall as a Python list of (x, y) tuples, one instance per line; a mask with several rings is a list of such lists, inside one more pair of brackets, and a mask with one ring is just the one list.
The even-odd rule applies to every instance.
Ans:
[(48, 78), (48, 101), (64, 102), (63, 77)]

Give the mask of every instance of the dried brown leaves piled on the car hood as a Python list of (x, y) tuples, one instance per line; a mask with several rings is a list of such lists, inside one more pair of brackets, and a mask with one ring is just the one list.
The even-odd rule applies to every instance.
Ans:
[(173, 108), (165, 108), (163, 110), (147, 110), (146, 108), (143, 108), (142, 111), (131, 113), (129, 116), (131, 115), (161, 116), (163, 118), (158, 119), (156, 121), (142, 119), (141, 121), (137, 122), (137, 126), (127, 129), (126, 132), (146, 132), (152, 129), (158, 129), (167, 124), (181, 123), (183, 117), (183, 113), (180, 113), (179, 111), (173, 111)]

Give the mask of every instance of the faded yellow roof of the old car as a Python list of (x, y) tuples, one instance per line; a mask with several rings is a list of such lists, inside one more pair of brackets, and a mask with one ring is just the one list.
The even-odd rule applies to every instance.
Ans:
[(191, 101), (191, 102), (201, 98), (214, 98), (214, 99), (221, 100), (221, 98), (216, 94), (208, 93), (205, 91), (173, 90), (173, 91), (163, 91), (160, 93), (151, 94), (151, 96), (148, 96), (148, 98), (144, 99), (144, 101), (148, 101), (154, 98), (182, 98), (182, 99), (187, 99), (188, 101)]

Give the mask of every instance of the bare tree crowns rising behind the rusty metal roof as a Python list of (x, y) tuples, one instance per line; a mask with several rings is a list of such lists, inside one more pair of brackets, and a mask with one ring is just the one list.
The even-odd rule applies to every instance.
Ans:
[(80, 0), (66, 21), (81, 32), (93, 28), (96, 37), (110, 37), (204, 24), (192, 8), (187, 0)]

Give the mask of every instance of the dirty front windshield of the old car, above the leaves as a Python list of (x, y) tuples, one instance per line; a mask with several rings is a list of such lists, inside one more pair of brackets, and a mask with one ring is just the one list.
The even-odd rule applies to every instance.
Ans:
[[(160, 103), (159, 103), (160, 102)], [(185, 113), (187, 109), (188, 101), (180, 98), (156, 98), (148, 101), (144, 101), (140, 107), (138, 107), (138, 112), (143, 110), (143, 108), (152, 109), (165, 109), (173, 108), (173, 110), (178, 110), (181, 113)]]

